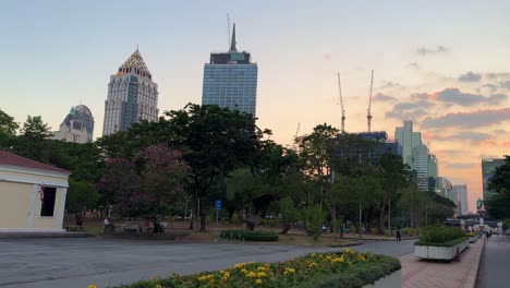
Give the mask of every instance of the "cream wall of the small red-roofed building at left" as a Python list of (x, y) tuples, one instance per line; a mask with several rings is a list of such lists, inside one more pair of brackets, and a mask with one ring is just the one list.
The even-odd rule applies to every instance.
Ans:
[[(66, 175), (0, 167), (0, 231), (63, 231)], [(40, 183), (56, 188), (53, 216), (40, 216)]]

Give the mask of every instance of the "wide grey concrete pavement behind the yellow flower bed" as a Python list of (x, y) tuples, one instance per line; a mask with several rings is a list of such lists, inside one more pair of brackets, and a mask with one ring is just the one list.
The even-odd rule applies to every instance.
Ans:
[[(413, 249), (413, 241), (363, 243), (352, 249), (397, 257)], [(168, 277), (172, 273), (221, 269), (239, 262), (276, 262), (338, 250), (342, 248), (90, 238), (0, 240), (0, 287), (80, 288), (94, 284), (100, 288), (155, 276)]]

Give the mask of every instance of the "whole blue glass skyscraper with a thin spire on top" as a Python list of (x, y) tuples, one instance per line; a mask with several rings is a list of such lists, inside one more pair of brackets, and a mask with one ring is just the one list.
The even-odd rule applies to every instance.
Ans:
[(258, 67), (250, 52), (238, 51), (234, 24), (230, 49), (210, 53), (209, 63), (204, 65), (202, 105), (218, 105), (255, 117), (257, 74)]

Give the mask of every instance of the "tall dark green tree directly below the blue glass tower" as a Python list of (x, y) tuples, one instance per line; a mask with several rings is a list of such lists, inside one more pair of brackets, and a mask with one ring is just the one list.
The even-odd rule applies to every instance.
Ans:
[(224, 195), (226, 177), (254, 163), (265, 131), (255, 125), (251, 115), (218, 106), (189, 104), (165, 115), (172, 141), (183, 146), (183, 157), (191, 167), (191, 189), (195, 203), (199, 200), (201, 231), (205, 231), (212, 201)]

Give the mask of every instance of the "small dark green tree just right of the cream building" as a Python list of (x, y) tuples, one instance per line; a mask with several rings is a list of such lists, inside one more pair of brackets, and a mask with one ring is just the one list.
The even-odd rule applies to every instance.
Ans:
[(93, 183), (85, 181), (69, 180), (69, 190), (65, 197), (65, 209), (74, 213), (76, 226), (83, 225), (83, 213), (86, 209), (95, 208), (99, 193)]

